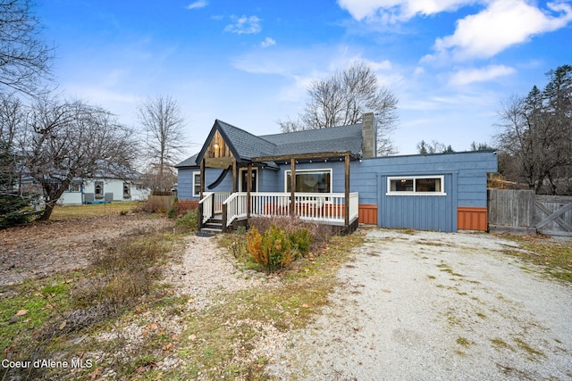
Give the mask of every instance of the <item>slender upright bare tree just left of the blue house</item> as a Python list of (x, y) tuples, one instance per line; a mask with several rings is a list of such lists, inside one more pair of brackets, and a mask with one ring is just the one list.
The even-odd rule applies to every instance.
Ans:
[(153, 190), (169, 191), (176, 178), (172, 166), (180, 159), (187, 142), (181, 108), (171, 96), (159, 95), (139, 105), (138, 117), (146, 131), (145, 146), (152, 160), (147, 183)]

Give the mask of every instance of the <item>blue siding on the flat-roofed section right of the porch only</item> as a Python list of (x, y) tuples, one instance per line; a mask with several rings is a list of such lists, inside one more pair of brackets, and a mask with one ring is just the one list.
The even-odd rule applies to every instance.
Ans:
[[(486, 175), (496, 171), (491, 152), (370, 158), (351, 163), (350, 190), (377, 205), (380, 227), (457, 231), (458, 207), (486, 207)], [(447, 195), (386, 195), (390, 176), (432, 175), (444, 176)]]

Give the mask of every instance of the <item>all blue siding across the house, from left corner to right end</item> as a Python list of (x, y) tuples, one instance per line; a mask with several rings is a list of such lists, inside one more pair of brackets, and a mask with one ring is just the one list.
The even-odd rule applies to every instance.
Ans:
[[(281, 162), (280, 170), (259, 169), (259, 192), (284, 192), (284, 173), (290, 164)], [(297, 170), (332, 169), (332, 192), (344, 192), (344, 162), (329, 160), (299, 163)], [(192, 172), (179, 169), (179, 197), (192, 196)], [(206, 186), (222, 170), (206, 169)], [(359, 193), (360, 204), (375, 204), (378, 225), (386, 228), (457, 231), (459, 206), (486, 207), (486, 175), (497, 171), (492, 152), (408, 155), (367, 158), (350, 163), (350, 192)], [(400, 176), (444, 176), (446, 195), (386, 195), (387, 178)], [(232, 189), (229, 173), (213, 189)]]

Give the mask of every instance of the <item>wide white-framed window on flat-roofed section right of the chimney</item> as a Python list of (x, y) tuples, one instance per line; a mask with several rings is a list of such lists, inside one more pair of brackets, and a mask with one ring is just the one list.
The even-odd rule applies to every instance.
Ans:
[(447, 195), (443, 176), (387, 178), (386, 195)]

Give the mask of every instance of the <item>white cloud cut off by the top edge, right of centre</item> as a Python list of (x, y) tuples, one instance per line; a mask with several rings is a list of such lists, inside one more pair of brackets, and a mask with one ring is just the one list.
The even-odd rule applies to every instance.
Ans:
[(417, 15), (456, 11), (462, 6), (484, 1), (486, 0), (338, 0), (338, 4), (357, 21), (366, 19), (392, 23), (408, 21)]

